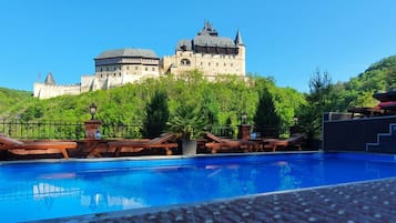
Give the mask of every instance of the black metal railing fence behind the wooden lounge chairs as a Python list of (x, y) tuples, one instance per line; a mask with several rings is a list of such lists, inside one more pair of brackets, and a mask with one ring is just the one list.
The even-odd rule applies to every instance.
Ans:
[[(14, 139), (37, 139), (37, 140), (82, 140), (85, 136), (83, 121), (65, 122), (65, 121), (29, 121), (22, 120), (0, 120), (0, 133), (7, 134)], [(139, 124), (125, 123), (102, 123), (100, 126), (103, 139), (139, 139), (142, 138), (142, 126)], [(210, 126), (209, 132), (221, 138), (235, 138), (237, 133), (236, 126)], [(286, 129), (277, 129), (274, 126), (254, 126), (253, 131), (257, 133), (257, 138), (277, 138)]]

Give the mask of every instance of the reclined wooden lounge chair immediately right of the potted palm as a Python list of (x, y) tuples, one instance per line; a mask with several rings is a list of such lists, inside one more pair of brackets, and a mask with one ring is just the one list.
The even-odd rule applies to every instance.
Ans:
[(205, 133), (204, 136), (212, 141), (205, 143), (205, 146), (210, 149), (212, 153), (217, 153), (220, 150), (243, 150), (245, 152), (252, 152), (260, 148), (260, 144), (254, 141), (222, 139), (212, 133)]

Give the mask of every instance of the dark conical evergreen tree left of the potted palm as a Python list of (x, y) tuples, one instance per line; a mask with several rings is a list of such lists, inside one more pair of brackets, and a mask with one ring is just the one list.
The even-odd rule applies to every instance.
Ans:
[(167, 95), (162, 91), (155, 91), (151, 101), (145, 107), (143, 120), (143, 135), (156, 138), (166, 129), (169, 119)]

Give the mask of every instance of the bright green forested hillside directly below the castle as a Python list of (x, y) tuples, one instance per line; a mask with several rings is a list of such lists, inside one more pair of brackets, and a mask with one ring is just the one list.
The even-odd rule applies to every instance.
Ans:
[(250, 77), (247, 82), (236, 77), (222, 77), (210, 82), (199, 71), (182, 78), (172, 75), (141, 83), (126, 84), (108, 91), (88, 92), (81, 95), (63, 95), (48, 100), (30, 98), (18, 111), (2, 114), (4, 118), (31, 120), (84, 121), (90, 118), (88, 107), (98, 105), (97, 118), (106, 123), (134, 123), (141, 125), (146, 116), (145, 107), (155, 91), (167, 95), (170, 114), (184, 105), (200, 107), (207, 113), (212, 125), (241, 123), (241, 114), (247, 114), (252, 123), (258, 103), (258, 94), (267, 89), (283, 126), (293, 124), (293, 118), (304, 95), (294, 89), (277, 88), (271, 78)]

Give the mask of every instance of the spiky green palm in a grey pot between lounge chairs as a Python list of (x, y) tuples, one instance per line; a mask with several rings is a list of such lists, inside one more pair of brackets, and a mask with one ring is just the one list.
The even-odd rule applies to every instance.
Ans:
[(183, 155), (196, 154), (196, 139), (206, 126), (206, 119), (200, 107), (181, 105), (167, 122), (169, 130), (181, 140)]

